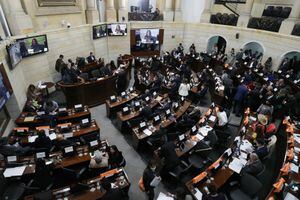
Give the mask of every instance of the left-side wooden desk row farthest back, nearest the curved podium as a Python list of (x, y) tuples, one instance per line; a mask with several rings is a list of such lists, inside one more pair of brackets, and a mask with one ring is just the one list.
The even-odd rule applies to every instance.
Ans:
[[(53, 118), (56, 118), (57, 123), (78, 123), (82, 119), (88, 118), (91, 119), (91, 113), (87, 106), (84, 106), (82, 111), (75, 111), (74, 108), (67, 109), (64, 111), (63, 115), (60, 115), (59, 113), (56, 113)], [(28, 112), (22, 112), (20, 116), (15, 120), (16, 125), (22, 126), (22, 127), (36, 127), (36, 126), (42, 126), (42, 125), (48, 125), (49, 119), (47, 115), (42, 114), (39, 115), (38, 113), (28, 113)], [(53, 120), (53, 119), (52, 119)]]

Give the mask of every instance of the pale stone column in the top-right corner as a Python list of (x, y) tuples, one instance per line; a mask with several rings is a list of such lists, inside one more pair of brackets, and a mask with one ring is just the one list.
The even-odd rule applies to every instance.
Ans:
[(287, 34), (287, 35), (291, 34), (295, 24), (299, 22), (300, 22), (300, 1), (295, 0), (289, 18), (284, 20), (281, 23), (279, 33)]

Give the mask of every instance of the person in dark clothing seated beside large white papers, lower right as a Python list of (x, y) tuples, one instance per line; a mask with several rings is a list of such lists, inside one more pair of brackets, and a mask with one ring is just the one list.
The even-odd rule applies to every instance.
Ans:
[(263, 164), (256, 153), (249, 155), (249, 160), (242, 169), (242, 173), (257, 175), (263, 170)]

